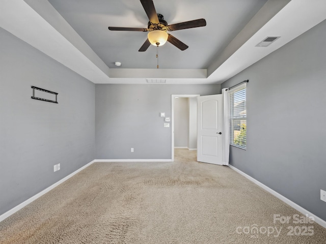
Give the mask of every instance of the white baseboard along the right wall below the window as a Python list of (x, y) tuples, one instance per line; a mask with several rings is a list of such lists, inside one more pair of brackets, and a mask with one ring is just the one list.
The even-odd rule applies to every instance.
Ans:
[(298, 210), (299, 212), (301, 212), (304, 215), (309, 215), (312, 216), (314, 218), (314, 221), (321, 225), (322, 227), (326, 228), (326, 221), (320, 219), (319, 217), (315, 216), (314, 214), (312, 214), (311, 212), (309, 212), (308, 210), (306, 210), (305, 208), (303, 208), (302, 206), (296, 204), (295, 202), (292, 202), (290, 199), (287, 199), (286, 197), (284, 197), (283, 195), (281, 195), (280, 193), (274, 191), (273, 189), (270, 189), (269, 187), (265, 186), (264, 184), (262, 184), (260, 181), (258, 181), (257, 179), (251, 177), (250, 175), (243, 173), (241, 170), (235, 168), (232, 165), (229, 165), (229, 167), (231, 169), (233, 169), (234, 171), (236, 171), (237, 173), (241, 174), (242, 176), (246, 177), (247, 179), (251, 180), (252, 182), (254, 182), (256, 185), (258, 185), (259, 187), (261, 187), (262, 189), (266, 190), (267, 192), (269, 192), (270, 194), (276, 196), (277, 198), (279, 198), (280, 200), (282, 200), (283, 202), (285, 202), (286, 204), (290, 205), (291, 207), (293, 207), (294, 209)]

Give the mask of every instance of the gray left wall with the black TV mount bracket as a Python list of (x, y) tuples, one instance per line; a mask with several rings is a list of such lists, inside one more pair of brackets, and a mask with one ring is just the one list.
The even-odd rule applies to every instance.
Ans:
[[(0, 37), (1, 215), (94, 160), (95, 85), (2, 28)], [(31, 85), (59, 104), (31, 99)]]

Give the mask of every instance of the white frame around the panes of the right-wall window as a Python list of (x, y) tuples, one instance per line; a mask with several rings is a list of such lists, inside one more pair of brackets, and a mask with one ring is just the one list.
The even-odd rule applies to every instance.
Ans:
[[(230, 139), (230, 145), (235, 146), (241, 149), (246, 150), (247, 149), (247, 111), (245, 114), (238, 115), (238, 116), (233, 116), (232, 111), (234, 109), (234, 101), (231, 101), (232, 95), (236, 93), (238, 90), (246, 89), (246, 102), (245, 102), (245, 110), (247, 110), (247, 83), (243, 83), (241, 85), (238, 85), (232, 89), (229, 90), (229, 102), (230, 102), (230, 107), (229, 107), (229, 125), (230, 125), (230, 134), (229, 134), (229, 139)], [(234, 143), (234, 120), (245, 120), (246, 124), (246, 136), (244, 137), (244, 145), (239, 145)], [(241, 124), (240, 124), (241, 125)], [(241, 129), (240, 129), (241, 131)]]

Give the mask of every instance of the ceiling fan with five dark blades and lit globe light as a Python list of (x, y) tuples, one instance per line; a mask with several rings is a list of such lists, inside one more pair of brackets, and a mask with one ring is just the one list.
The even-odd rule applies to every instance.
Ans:
[(188, 29), (206, 26), (205, 19), (195, 19), (191, 21), (176, 23), (176, 24), (168, 24), (167, 21), (164, 20), (164, 16), (161, 14), (157, 14), (154, 3), (152, 0), (140, 0), (143, 8), (149, 18), (148, 27), (147, 28), (133, 28), (133, 27), (112, 27), (109, 26), (108, 29), (110, 31), (131, 31), (131, 32), (149, 32), (148, 38), (143, 44), (143, 46), (139, 49), (140, 52), (144, 52), (147, 48), (152, 44), (154, 46), (162, 46), (167, 41), (179, 48), (180, 50), (185, 50), (188, 48), (186, 44), (168, 34), (168, 32), (177, 31), (178, 29)]

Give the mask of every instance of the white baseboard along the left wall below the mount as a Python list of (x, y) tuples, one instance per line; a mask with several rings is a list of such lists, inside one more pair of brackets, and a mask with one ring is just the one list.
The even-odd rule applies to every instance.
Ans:
[(59, 186), (62, 182), (66, 181), (67, 179), (69, 179), (70, 177), (74, 176), (76, 173), (78, 173), (79, 171), (82, 171), (83, 169), (87, 168), (88, 166), (90, 166), (91, 164), (93, 164), (95, 161), (93, 160), (92, 162), (88, 163), (87, 165), (84, 165), (82, 168), (77, 169), (76, 171), (72, 172), (71, 174), (67, 175), (66, 177), (64, 177), (63, 179), (59, 180), (58, 182), (56, 182), (55, 184), (49, 186), (48, 188), (44, 189), (43, 191), (39, 192), (38, 194), (34, 195), (33, 197), (23, 201), (22, 203), (20, 203), (19, 205), (13, 207), (12, 209), (8, 210), (7, 212), (5, 212), (4, 214), (2, 214), (0, 216), (0, 222), (3, 221), (4, 219), (7, 219), (9, 216), (11, 216), (12, 214), (14, 214), (15, 212), (17, 212), (18, 210), (20, 210), (21, 208), (23, 208), (24, 206), (30, 204), (31, 202), (33, 202), (34, 200), (38, 199), (39, 197), (41, 197), (42, 195), (44, 195), (45, 193), (51, 191), (53, 188)]

